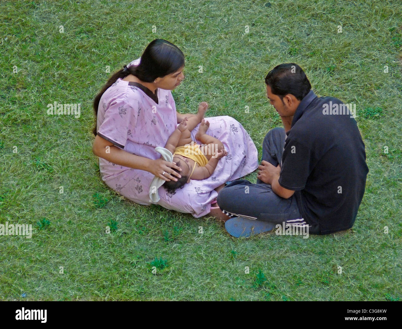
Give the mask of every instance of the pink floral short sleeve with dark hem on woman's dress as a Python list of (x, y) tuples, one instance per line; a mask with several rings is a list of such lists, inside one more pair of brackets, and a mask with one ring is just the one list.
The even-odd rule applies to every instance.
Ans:
[(125, 98), (117, 99), (105, 111), (103, 122), (98, 129), (98, 135), (114, 145), (124, 148), (129, 127), (133, 125), (136, 116), (133, 108)]

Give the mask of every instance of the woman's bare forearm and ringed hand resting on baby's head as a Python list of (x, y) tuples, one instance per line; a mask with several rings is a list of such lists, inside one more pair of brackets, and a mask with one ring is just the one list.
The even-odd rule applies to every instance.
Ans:
[[(139, 170), (145, 170), (158, 176), (166, 181), (177, 180), (173, 177), (177, 176), (180, 178), (180, 174), (176, 173), (172, 168), (181, 170), (180, 167), (176, 166), (172, 162), (165, 161), (164, 159), (148, 159), (146, 157), (141, 157), (139, 155), (131, 154), (119, 147), (113, 145), (113, 143), (107, 141), (106, 139), (96, 135), (94, 145), (92, 146), (92, 152), (94, 155), (106, 159), (112, 163), (116, 163), (120, 166), (134, 168)], [(165, 172), (165, 175), (162, 173)]]

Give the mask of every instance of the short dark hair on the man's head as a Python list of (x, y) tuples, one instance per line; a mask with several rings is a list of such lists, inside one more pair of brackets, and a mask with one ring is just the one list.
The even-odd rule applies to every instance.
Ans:
[(265, 83), (271, 87), (273, 94), (283, 97), (292, 94), (302, 100), (311, 90), (310, 81), (301, 67), (295, 63), (275, 66), (265, 77)]

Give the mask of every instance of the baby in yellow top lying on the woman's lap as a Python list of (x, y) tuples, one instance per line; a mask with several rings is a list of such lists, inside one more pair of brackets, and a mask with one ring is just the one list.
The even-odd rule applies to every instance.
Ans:
[[(204, 120), (208, 104), (201, 102), (198, 106), (198, 112), (194, 116), (185, 119), (178, 125), (176, 130), (166, 142), (165, 149), (173, 154), (173, 162), (181, 168), (179, 172), (181, 178), (177, 182), (170, 180), (163, 186), (169, 193), (173, 193), (177, 188), (193, 180), (203, 180), (208, 178), (214, 172), (220, 158), (228, 155), (224, 145), (218, 139), (206, 134), (209, 128), (209, 122)], [(191, 131), (201, 123), (195, 139), (203, 143), (195, 143), (191, 139)]]

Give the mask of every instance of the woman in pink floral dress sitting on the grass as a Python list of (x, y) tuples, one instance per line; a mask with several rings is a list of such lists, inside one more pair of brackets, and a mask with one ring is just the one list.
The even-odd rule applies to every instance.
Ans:
[[(100, 174), (110, 188), (133, 202), (151, 204), (149, 189), (155, 176), (166, 181), (180, 177), (173, 170), (180, 168), (164, 161), (155, 147), (163, 147), (178, 123), (193, 115), (176, 112), (170, 91), (184, 79), (184, 64), (178, 47), (156, 39), (140, 59), (113, 74), (94, 99), (92, 150), (99, 157)], [(222, 141), (228, 155), (205, 180), (192, 180), (174, 194), (159, 188), (156, 204), (194, 217), (209, 214), (221, 218), (219, 208), (211, 210), (215, 188), (254, 171), (257, 150), (242, 125), (230, 116), (207, 120), (208, 134)], [(193, 140), (197, 131), (198, 126), (191, 132)]]

